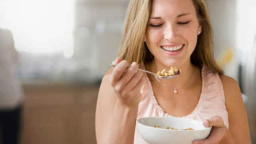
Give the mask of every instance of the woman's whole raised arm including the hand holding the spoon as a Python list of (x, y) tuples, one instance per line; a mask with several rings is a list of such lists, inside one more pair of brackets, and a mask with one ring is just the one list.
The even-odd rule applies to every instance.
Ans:
[(138, 66), (123, 60), (104, 76), (96, 108), (98, 144), (133, 144), (140, 89), (145, 81), (143, 73), (136, 72)]

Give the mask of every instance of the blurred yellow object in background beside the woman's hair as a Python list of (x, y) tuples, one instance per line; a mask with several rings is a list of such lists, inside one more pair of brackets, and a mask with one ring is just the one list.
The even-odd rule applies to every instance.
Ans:
[(217, 64), (220, 66), (220, 68), (224, 68), (234, 57), (233, 48), (227, 48), (227, 50), (218, 58)]

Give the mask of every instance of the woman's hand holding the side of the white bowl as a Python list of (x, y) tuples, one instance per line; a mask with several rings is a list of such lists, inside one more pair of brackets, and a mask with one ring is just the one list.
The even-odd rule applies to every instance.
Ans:
[(204, 126), (212, 126), (210, 136), (205, 140), (196, 140), (193, 144), (218, 144), (228, 131), (220, 116), (214, 116), (210, 120), (204, 120)]

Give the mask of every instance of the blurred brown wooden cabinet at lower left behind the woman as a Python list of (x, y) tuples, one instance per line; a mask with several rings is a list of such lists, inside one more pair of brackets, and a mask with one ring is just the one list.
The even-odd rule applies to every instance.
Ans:
[(24, 86), (22, 144), (96, 144), (99, 86)]

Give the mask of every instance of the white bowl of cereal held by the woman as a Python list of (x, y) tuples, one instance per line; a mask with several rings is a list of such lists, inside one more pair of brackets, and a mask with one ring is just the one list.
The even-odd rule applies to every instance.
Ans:
[[(154, 126), (159, 125), (159, 128)], [(178, 130), (166, 129), (167, 127)], [(142, 138), (150, 144), (192, 144), (194, 140), (208, 137), (212, 128), (205, 128), (202, 121), (178, 117), (146, 117), (136, 121)], [(193, 130), (184, 130), (192, 128)]]

